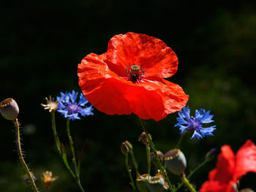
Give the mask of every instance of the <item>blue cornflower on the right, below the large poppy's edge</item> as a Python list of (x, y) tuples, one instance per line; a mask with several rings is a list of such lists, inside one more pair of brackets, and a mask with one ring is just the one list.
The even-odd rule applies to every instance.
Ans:
[(214, 122), (211, 118), (214, 115), (210, 115), (210, 111), (206, 112), (204, 109), (195, 110), (195, 117), (190, 116), (189, 107), (183, 107), (181, 111), (178, 112), (179, 118), (177, 118), (178, 123), (175, 126), (179, 127), (181, 134), (184, 131), (194, 131), (191, 139), (203, 139), (208, 135), (214, 136), (212, 132), (216, 129), (216, 126), (203, 127), (205, 123)]

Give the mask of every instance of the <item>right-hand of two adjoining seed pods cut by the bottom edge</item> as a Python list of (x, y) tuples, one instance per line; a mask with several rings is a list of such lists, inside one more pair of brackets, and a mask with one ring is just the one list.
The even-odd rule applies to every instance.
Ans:
[(163, 192), (169, 187), (165, 182), (165, 177), (162, 174), (157, 174), (148, 180), (148, 188), (151, 192)]

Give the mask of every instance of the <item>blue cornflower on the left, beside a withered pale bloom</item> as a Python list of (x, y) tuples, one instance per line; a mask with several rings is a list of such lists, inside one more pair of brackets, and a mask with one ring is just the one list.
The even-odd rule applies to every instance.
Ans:
[(61, 96), (57, 96), (57, 101), (59, 102), (58, 112), (61, 112), (64, 115), (64, 118), (69, 118), (71, 120), (80, 119), (78, 115), (94, 115), (92, 106), (86, 107), (88, 101), (83, 96), (83, 93), (80, 93), (79, 101), (77, 102), (78, 92), (74, 90), (72, 93), (62, 93)]

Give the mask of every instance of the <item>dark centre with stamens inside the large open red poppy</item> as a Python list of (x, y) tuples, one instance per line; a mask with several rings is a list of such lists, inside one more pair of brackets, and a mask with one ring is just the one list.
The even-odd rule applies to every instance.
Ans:
[(145, 75), (144, 67), (140, 67), (136, 64), (128, 66), (125, 70), (127, 72), (127, 80), (130, 80), (134, 83), (140, 82), (140, 80), (142, 80), (142, 77)]

